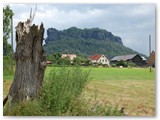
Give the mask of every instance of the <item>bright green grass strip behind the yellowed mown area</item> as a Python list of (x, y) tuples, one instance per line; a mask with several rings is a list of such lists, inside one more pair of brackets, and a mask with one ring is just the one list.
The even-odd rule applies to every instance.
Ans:
[[(148, 68), (92, 68), (82, 67), (83, 70), (90, 70), (92, 80), (154, 80), (155, 69), (149, 72)], [(46, 69), (45, 76), (52, 70)], [(56, 69), (59, 69), (58, 67)], [(68, 68), (69, 69), (69, 68)]]

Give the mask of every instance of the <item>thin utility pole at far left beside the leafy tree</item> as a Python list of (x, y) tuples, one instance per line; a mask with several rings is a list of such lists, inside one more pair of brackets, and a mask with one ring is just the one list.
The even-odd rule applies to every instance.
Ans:
[(11, 17), (11, 70), (13, 71), (13, 16)]

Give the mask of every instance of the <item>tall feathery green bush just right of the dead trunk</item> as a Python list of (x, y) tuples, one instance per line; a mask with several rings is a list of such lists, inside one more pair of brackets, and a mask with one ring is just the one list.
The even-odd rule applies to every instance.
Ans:
[(71, 100), (82, 92), (88, 72), (80, 68), (60, 68), (50, 71), (44, 84), (41, 104), (51, 115), (61, 115), (70, 106)]

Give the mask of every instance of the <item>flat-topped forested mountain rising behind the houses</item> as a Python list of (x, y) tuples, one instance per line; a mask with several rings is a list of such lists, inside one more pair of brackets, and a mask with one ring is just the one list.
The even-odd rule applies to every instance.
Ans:
[(44, 49), (47, 54), (55, 52), (84, 56), (104, 54), (111, 59), (116, 55), (137, 53), (125, 47), (120, 37), (99, 28), (80, 29), (71, 27), (62, 31), (49, 28), (45, 43)]

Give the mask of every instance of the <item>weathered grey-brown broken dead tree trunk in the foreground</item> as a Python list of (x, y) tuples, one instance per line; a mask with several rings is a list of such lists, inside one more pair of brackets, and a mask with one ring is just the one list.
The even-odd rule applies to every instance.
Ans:
[(42, 47), (44, 27), (35, 24), (16, 27), (16, 71), (8, 94), (9, 104), (35, 99), (42, 88), (46, 57)]

